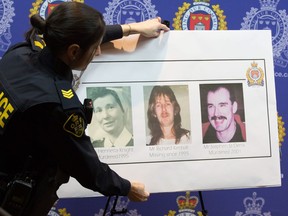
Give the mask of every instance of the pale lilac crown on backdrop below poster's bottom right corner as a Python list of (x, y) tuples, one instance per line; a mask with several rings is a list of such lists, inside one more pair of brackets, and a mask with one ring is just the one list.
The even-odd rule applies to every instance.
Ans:
[(245, 213), (237, 211), (235, 216), (271, 216), (270, 212), (262, 213), (265, 200), (262, 197), (257, 197), (256, 192), (252, 194), (252, 197), (244, 198), (243, 204)]

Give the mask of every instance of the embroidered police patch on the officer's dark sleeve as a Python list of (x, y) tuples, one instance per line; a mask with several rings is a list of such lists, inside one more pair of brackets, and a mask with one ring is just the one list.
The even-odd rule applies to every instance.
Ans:
[(84, 119), (77, 114), (71, 114), (63, 125), (63, 129), (76, 136), (81, 137), (84, 134)]

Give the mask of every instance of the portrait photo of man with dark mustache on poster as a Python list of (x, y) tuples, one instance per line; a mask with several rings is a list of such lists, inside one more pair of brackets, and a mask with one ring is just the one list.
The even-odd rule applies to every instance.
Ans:
[[(200, 94), (202, 122), (208, 118), (202, 124), (203, 143), (245, 142), (242, 84), (202, 84)], [(207, 116), (203, 115), (205, 109)]]

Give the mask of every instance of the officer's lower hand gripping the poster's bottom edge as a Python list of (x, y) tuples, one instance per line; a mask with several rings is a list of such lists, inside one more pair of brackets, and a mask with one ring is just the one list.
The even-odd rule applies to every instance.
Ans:
[(140, 182), (131, 182), (131, 188), (128, 193), (128, 198), (134, 202), (147, 201), (149, 192), (145, 190), (144, 184)]

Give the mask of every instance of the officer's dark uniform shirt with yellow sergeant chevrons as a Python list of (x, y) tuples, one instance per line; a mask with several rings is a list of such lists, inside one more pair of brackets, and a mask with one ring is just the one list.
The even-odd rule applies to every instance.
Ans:
[[(103, 42), (119, 37), (121, 27), (108, 26)], [(55, 191), (72, 176), (104, 195), (127, 195), (130, 182), (99, 161), (86, 136), (84, 110), (71, 83), (71, 69), (47, 47), (36, 52), (29, 43), (20, 43), (3, 56), (0, 173), (12, 177), (28, 170), (37, 184), (61, 170)], [(28, 156), (32, 157), (29, 164)], [(35, 209), (41, 207), (38, 203), (33, 203)]]

